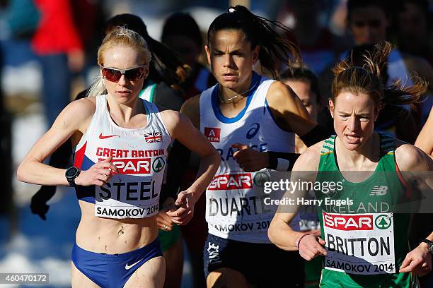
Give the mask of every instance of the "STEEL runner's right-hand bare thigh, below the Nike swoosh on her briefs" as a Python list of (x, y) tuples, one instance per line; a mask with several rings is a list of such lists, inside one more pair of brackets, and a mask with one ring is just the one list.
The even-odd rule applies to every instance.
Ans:
[(138, 268), (125, 283), (125, 288), (159, 288), (164, 285), (166, 261), (163, 257), (151, 258)]

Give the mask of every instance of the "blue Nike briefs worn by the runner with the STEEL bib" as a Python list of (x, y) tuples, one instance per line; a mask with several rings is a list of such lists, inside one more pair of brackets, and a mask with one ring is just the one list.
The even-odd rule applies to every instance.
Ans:
[(120, 288), (135, 270), (158, 256), (163, 253), (156, 238), (149, 245), (122, 254), (95, 253), (74, 244), (71, 258), (75, 267), (100, 287)]

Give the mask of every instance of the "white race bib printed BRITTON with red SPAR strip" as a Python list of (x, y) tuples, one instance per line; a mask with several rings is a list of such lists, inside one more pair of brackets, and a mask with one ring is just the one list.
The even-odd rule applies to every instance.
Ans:
[(323, 212), (325, 269), (357, 275), (396, 272), (393, 213)]

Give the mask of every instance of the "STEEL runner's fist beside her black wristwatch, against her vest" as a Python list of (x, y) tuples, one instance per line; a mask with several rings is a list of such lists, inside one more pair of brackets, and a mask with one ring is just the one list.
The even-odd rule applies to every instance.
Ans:
[(93, 164), (88, 170), (81, 171), (75, 179), (75, 184), (79, 186), (103, 186), (110, 179), (112, 173), (117, 172), (117, 167), (110, 163), (111, 160), (112, 156)]

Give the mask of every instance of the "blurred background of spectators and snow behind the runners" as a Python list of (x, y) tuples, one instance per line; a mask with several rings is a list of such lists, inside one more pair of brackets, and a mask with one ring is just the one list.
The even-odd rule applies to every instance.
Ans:
[[(235, 4), (291, 28), (286, 36), (319, 78), (321, 107), (330, 96), (333, 64), (355, 44), (388, 40), (398, 47), (394, 60), (403, 68), (388, 78), (418, 73), (431, 83), (417, 109), (387, 127), (414, 142), (432, 108), (432, 0), (381, 1), (383, 8), (352, 13), (349, 21), (346, 0), (0, 0), (0, 272), (49, 272), (50, 287), (69, 286), (70, 249), (80, 217), (75, 193), (59, 189), (44, 221), (29, 208), (38, 187), (19, 183), (15, 173), (35, 140), (99, 73), (96, 51), (105, 20), (133, 13), (151, 37), (161, 40), (168, 16), (183, 11), (195, 18), (205, 42), (212, 20)], [(207, 65), (204, 55), (200, 61)], [(183, 287), (191, 287), (189, 275), (186, 262)]]

